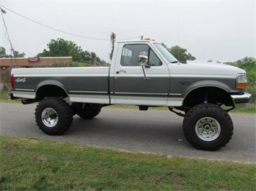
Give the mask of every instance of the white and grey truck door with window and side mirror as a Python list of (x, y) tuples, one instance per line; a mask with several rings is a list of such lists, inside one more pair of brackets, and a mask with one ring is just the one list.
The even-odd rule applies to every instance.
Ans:
[[(144, 71), (142, 63), (138, 61), (139, 55), (148, 57), (146, 66), (143, 66)], [(149, 45), (123, 45), (120, 62), (115, 65), (113, 80), (115, 103), (167, 105), (169, 69)]]

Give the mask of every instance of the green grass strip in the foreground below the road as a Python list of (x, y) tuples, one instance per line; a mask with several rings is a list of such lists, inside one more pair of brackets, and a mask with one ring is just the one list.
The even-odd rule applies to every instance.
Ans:
[(255, 190), (255, 164), (0, 136), (0, 190)]

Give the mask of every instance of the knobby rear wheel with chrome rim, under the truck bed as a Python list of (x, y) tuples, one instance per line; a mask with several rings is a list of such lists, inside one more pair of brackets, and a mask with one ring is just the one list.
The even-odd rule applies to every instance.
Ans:
[(35, 122), (48, 135), (63, 134), (73, 122), (73, 113), (63, 98), (45, 98), (35, 108)]

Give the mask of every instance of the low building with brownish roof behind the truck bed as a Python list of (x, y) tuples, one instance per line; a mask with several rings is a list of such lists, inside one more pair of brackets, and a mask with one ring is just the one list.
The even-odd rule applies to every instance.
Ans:
[(1, 57), (1, 69), (6, 67), (43, 67), (53, 62), (70, 62), (72, 57)]

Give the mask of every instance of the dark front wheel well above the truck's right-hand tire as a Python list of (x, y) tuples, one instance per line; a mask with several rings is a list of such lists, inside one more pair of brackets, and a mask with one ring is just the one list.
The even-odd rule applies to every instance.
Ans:
[(216, 105), (233, 106), (229, 93), (221, 88), (204, 87), (192, 90), (183, 101), (183, 107), (192, 108), (200, 103), (213, 103)]

